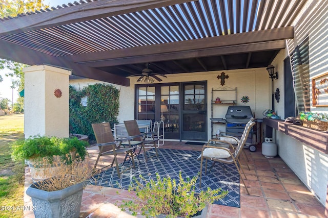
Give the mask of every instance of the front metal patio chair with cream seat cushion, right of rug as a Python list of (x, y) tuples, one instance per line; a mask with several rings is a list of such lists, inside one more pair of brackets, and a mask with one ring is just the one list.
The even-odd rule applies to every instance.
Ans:
[[(254, 122), (254, 118), (251, 118), (250, 121), (246, 124), (244, 131), (241, 135), (241, 138), (238, 142), (238, 145), (236, 147), (236, 149), (234, 149), (234, 146), (228, 142), (228, 141), (222, 141), (222, 140), (209, 140), (209, 143), (206, 146), (203, 146), (202, 150), (201, 150), (201, 155), (200, 155), (200, 176), (199, 176), (199, 187), (201, 187), (201, 172), (202, 172), (202, 163), (203, 163), (203, 159), (206, 159), (206, 163), (205, 163), (205, 175), (207, 174), (207, 161), (208, 160), (212, 160), (213, 164), (211, 166), (211, 168), (214, 166), (214, 164), (216, 162), (220, 162), (220, 163), (228, 163), (228, 164), (235, 164), (237, 171), (239, 173), (240, 179), (242, 180), (242, 183), (244, 184), (246, 191), (248, 193), (248, 195), (250, 195), (250, 192), (248, 191), (248, 188), (241, 176), (241, 172), (240, 169), (245, 177), (245, 179), (247, 180), (247, 177), (243, 171), (243, 168), (240, 164), (239, 161), (239, 155), (242, 152), (242, 149), (245, 145), (245, 142), (247, 140), (247, 137), (252, 129), (252, 127), (255, 125)], [(213, 146), (211, 145), (214, 141), (219, 141), (223, 144), (228, 144), (229, 147), (231, 148), (232, 151), (230, 151), (229, 148), (225, 148), (225, 147), (217, 147), (217, 146)], [(215, 144), (217, 145), (217, 144)], [(239, 164), (239, 167), (238, 167)], [(210, 169), (211, 170), (211, 169)]]

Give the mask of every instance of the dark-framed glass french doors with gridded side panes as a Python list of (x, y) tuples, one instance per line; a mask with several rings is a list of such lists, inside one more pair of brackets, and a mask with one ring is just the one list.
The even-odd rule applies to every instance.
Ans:
[(164, 122), (165, 138), (207, 140), (206, 82), (136, 85), (136, 119)]

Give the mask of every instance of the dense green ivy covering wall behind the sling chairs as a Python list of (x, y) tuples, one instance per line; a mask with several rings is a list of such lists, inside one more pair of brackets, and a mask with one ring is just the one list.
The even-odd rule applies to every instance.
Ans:
[[(94, 84), (75, 90), (70, 85), (70, 133), (88, 135), (94, 140), (92, 123), (117, 123), (119, 110), (119, 90), (113, 85)], [(86, 106), (81, 99), (87, 97)]]

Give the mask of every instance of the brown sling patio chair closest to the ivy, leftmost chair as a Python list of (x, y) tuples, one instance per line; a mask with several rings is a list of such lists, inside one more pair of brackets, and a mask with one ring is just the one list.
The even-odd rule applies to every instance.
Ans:
[[(99, 149), (98, 157), (96, 160), (96, 163), (94, 165), (94, 168), (97, 167), (98, 161), (100, 156), (105, 156), (105, 155), (113, 155), (114, 159), (112, 161), (112, 164), (108, 166), (113, 166), (114, 162), (116, 164), (116, 169), (117, 169), (117, 175), (120, 177), (120, 174), (127, 171), (131, 167), (126, 168), (124, 171), (120, 173), (119, 167), (118, 167), (118, 161), (117, 161), (117, 155), (119, 154), (125, 154), (124, 162), (122, 165), (124, 165), (125, 161), (129, 158), (129, 160), (132, 160), (132, 165), (135, 168), (134, 164), (134, 159), (133, 159), (133, 152), (135, 152), (135, 148), (130, 147), (130, 148), (120, 148), (122, 142), (124, 141), (130, 141), (130, 138), (122, 138), (122, 139), (117, 139), (116, 141), (114, 140), (114, 136), (111, 130), (111, 127), (109, 123), (99, 123), (99, 124), (91, 124), (92, 129), (94, 132), (94, 135), (96, 137), (97, 141), (97, 146)], [(118, 142), (118, 145), (117, 145)], [(105, 166), (107, 167), (107, 166)], [(103, 168), (105, 168), (103, 167)], [(101, 168), (101, 169), (103, 169)]]

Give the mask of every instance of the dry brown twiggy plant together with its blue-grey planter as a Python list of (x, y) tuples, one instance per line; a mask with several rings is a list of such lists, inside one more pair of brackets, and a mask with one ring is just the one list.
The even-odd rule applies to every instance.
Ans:
[(31, 197), (35, 217), (79, 217), (86, 180), (95, 172), (89, 157), (55, 159), (49, 163), (43, 158), (48, 179), (32, 183), (26, 190)]

